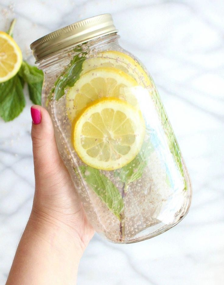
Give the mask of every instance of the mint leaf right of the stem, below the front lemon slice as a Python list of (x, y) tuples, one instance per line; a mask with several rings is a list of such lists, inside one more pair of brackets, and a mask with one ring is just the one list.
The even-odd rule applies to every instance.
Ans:
[(114, 172), (114, 175), (118, 176), (121, 182), (125, 183), (125, 189), (127, 189), (128, 184), (142, 177), (142, 173), (147, 165), (147, 160), (152, 149), (153, 146), (149, 138), (147, 141), (143, 142), (141, 150), (131, 162)]

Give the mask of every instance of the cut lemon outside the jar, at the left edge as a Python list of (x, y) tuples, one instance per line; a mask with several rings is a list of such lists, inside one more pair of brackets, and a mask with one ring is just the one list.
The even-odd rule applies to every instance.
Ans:
[(7, 33), (0, 31), (0, 82), (16, 75), (22, 60), (22, 52), (17, 43)]

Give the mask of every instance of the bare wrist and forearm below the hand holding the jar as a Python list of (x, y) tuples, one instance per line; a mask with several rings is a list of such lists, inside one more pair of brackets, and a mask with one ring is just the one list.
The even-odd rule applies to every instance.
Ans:
[(76, 284), (82, 253), (68, 229), (32, 210), (6, 284)]

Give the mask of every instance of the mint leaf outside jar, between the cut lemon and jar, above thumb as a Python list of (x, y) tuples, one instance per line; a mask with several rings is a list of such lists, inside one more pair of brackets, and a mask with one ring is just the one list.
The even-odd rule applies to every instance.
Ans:
[(36, 105), (41, 105), (41, 92), (44, 81), (43, 71), (23, 61), (19, 70), (19, 76), (28, 84), (30, 100)]

